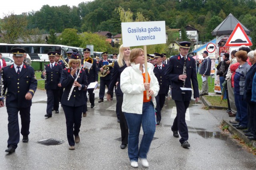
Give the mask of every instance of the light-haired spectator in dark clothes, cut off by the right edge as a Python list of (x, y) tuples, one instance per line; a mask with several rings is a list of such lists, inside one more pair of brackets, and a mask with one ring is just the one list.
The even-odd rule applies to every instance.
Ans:
[[(251, 101), (252, 99), (252, 83), (253, 78), (256, 72), (256, 51), (250, 51), (248, 53), (249, 62), (252, 63), (252, 67), (249, 69), (246, 79), (245, 79), (245, 86), (244, 86), (244, 100), (247, 102), (247, 114), (248, 114), (248, 129), (246, 130), (245, 135), (248, 136), (249, 139), (254, 140), (256, 138), (255, 132), (253, 130), (254, 127), (254, 119), (255, 117), (255, 103)], [(253, 137), (254, 136), (254, 137)], [(254, 138), (254, 139), (252, 139)]]

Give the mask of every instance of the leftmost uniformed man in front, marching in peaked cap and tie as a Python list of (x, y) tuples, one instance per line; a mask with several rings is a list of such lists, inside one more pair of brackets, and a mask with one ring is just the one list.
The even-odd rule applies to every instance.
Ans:
[[(22, 48), (11, 50), (14, 64), (3, 69), (4, 91), (6, 94), (6, 108), (8, 113), (8, 145), (5, 152), (12, 153), (20, 141), (20, 132), (23, 135), (22, 142), (28, 142), (30, 127), (30, 107), (32, 97), (36, 91), (37, 80), (34, 69), (23, 63), (23, 55), (26, 52)], [(1, 94), (2, 95), (2, 94)], [(0, 101), (0, 107), (3, 107)], [(21, 130), (19, 128), (18, 112), (20, 112)]]

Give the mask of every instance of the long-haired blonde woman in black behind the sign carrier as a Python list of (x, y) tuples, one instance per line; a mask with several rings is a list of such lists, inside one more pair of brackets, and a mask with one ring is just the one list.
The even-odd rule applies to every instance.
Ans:
[(125, 149), (128, 144), (128, 126), (124, 113), (122, 112), (122, 103), (123, 103), (123, 92), (120, 89), (120, 75), (122, 71), (130, 66), (129, 56), (130, 56), (130, 47), (124, 47), (123, 45), (119, 48), (119, 55), (117, 61), (114, 63), (113, 75), (110, 80), (110, 85), (107, 92), (107, 100), (111, 99), (111, 93), (114, 91), (114, 86), (116, 85), (116, 115), (117, 121), (120, 121), (121, 137), (122, 143), (120, 145), (121, 149)]

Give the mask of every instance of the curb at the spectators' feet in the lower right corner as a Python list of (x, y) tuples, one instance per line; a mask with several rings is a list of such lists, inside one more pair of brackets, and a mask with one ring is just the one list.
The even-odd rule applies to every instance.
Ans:
[(228, 125), (228, 131), (231, 134), (237, 134), (240, 138), (242, 138), (244, 140), (244, 142), (246, 142), (247, 144), (252, 144), (252, 147), (256, 148), (256, 141), (255, 140), (250, 140), (247, 138), (247, 136), (244, 135), (244, 132), (242, 130), (236, 129), (235, 127), (232, 126), (232, 123), (223, 120), (223, 126)]

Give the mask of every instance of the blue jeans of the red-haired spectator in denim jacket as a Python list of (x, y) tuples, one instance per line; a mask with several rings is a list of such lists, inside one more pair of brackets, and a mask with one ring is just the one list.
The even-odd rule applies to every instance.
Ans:
[(235, 95), (235, 103), (237, 113), (236, 119), (239, 119), (239, 125), (247, 127), (248, 119), (247, 119), (247, 103), (243, 100), (243, 95), (234, 94)]

